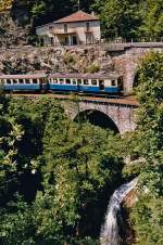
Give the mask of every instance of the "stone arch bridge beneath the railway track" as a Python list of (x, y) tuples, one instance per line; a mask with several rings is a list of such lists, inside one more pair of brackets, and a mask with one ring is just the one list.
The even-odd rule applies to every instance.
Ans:
[[(82, 99), (65, 101), (62, 105), (73, 119), (82, 117), (93, 125), (113, 129), (121, 134), (136, 128), (135, 112), (138, 103), (129, 99)], [(85, 118), (86, 116), (86, 118)]]

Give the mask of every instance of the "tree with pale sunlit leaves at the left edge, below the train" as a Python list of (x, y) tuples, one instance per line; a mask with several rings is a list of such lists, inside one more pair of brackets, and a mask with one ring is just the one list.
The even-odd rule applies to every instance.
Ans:
[(9, 100), (0, 95), (0, 198), (1, 206), (13, 198), (18, 184), (17, 146), (24, 131), (14, 117), (8, 117)]

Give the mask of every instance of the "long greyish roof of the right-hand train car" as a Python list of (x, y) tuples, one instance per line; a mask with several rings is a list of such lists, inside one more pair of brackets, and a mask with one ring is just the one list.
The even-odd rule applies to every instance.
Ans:
[(83, 79), (117, 79), (120, 74), (65, 74), (54, 73), (49, 75), (50, 78), (83, 78)]

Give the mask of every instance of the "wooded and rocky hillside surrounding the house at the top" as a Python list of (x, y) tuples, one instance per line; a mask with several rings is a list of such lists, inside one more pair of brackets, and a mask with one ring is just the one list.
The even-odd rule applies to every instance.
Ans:
[[(84, 0), (79, 8), (88, 13), (95, 11), (100, 16), (103, 38), (161, 40), (163, 37), (162, 0)], [(36, 26), (66, 16), (77, 9), (77, 0), (1, 0), (0, 46), (7, 46), (7, 39), (8, 46), (35, 43)]]

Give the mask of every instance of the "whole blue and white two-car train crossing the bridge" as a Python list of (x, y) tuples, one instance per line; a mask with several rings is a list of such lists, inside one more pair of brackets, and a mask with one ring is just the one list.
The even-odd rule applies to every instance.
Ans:
[(0, 85), (5, 91), (118, 94), (123, 90), (122, 76), (117, 74), (0, 75)]

